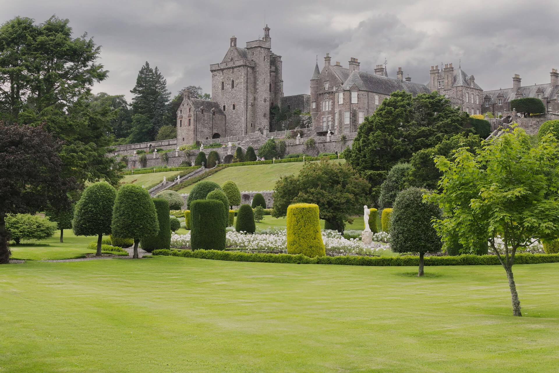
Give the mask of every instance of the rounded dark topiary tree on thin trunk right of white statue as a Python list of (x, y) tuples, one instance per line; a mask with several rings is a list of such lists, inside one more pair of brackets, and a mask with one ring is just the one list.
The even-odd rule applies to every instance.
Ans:
[(440, 251), (442, 242), (433, 228), (431, 219), (440, 219), (438, 206), (423, 202), (425, 190), (408, 188), (396, 196), (392, 225), (390, 227), (390, 247), (396, 253), (419, 252), (418, 276), (423, 276), (423, 256), (425, 253)]

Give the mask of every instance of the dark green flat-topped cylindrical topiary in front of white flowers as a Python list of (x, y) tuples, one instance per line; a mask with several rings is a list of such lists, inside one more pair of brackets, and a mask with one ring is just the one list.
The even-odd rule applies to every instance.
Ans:
[(217, 200), (195, 200), (190, 207), (192, 250), (224, 250), (224, 205)]

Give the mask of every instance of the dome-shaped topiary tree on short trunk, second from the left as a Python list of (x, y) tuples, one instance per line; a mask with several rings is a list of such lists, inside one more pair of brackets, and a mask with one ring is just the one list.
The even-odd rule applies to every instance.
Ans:
[[(169, 216), (169, 211), (167, 211)], [(134, 240), (134, 258), (138, 258), (138, 244), (144, 237), (159, 232), (159, 220), (153, 200), (144, 188), (125, 184), (119, 188), (112, 211), (112, 235)]]

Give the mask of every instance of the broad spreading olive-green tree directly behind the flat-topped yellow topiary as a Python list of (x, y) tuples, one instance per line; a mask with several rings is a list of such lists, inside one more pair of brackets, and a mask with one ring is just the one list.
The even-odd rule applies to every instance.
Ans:
[(348, 164), (329, 162), (307, 163), (297, 176), (282, 176), (273, 194), (272, 216), (287, 213), (287, 206), (307, 202), (319, 206), (320, 219), (328, 220), (338, 232), (343, 232), (344, 221), (362, 213), (367, 204), (369, 184)]

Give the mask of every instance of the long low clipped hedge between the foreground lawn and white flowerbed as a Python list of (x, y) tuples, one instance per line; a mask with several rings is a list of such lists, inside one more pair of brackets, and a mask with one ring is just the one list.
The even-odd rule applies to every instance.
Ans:
[[(419, 265), (419, 257), (315, 257), (309, 258), (302, 254), (265, 254), (245, 253), (238, 251), (218, 250), (169, 250), (153, 251), (154, 256), (174, 256), (183, 258), (214, 259), (232, 262), (262, 262), (262, 263), (290, 263), (290, 264), (325, 264), (343, 266), (391, 266), (405, 267)], [(456, 257), (425, 257), (425, 266), (497, 266), (501, 265), (495, 255), (463, 254)], [(559, 254), (516, 254), (514, 264), (542, 264), (559, 263)]]

